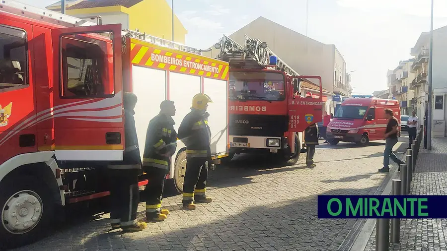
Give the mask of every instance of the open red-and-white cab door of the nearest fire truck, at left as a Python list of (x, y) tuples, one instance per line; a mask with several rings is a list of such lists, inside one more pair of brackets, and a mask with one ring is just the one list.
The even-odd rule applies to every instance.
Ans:
[(52, 31), (58, 160), (122, 160), (121, 24)]

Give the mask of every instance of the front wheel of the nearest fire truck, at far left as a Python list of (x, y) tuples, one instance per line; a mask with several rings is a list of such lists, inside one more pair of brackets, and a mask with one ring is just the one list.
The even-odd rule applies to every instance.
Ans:
[(45, 184), (25, 176), (2, 182), (0, 191), (0, 246), (27, 245), (50, 233), (55, 203)]

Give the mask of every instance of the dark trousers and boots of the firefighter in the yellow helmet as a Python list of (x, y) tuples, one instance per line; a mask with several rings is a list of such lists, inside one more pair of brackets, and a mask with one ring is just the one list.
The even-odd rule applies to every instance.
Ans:
[(187, 158), (185, 180), (183, 182), (183, 201), (192, 201), (194, 196), (205, 195), (208, 168), (207, 158)]

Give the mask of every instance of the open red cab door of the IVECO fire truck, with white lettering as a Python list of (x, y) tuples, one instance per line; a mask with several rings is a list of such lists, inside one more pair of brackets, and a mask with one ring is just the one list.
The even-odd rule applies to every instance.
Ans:
[[(317, 79), (319, 81), (319, 96), (301, 97), (288, 95), (289, 111), (289, 131), (302, 132), (309, 125), (321, 122), (323, 120), (323, 94), (320, 76), (293, 76), (299, 79)], [(308, 81), (309, 80), (302, 80)], [(295, 93), (295, 90), (294, 92)]]

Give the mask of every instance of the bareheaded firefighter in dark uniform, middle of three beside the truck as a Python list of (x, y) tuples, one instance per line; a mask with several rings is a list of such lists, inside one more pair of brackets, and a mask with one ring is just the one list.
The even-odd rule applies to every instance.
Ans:
[(171, 157), (177, 148), (177, 133), (174, 130), (174, 102), (164, 100), (160, 113), (149, 122), (146, 132), (143, 170), (149, 179), (146, 193), (146, 218), (149, 221), (163, 221), (169, 210), (161, 209), (164, 181), (171, 167)]

